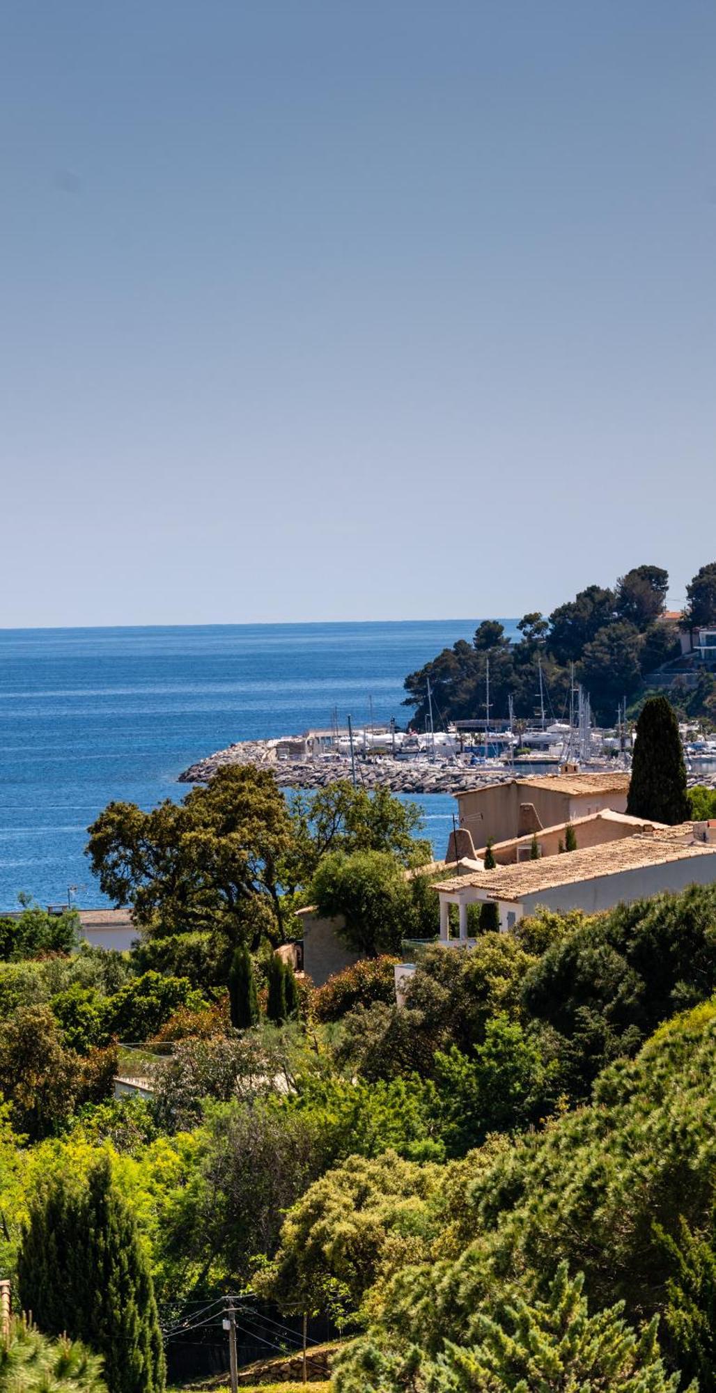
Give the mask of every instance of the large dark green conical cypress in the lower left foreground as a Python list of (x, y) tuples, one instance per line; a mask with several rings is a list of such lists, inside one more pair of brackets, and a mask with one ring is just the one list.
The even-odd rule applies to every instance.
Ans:
[(82, 1190), (54, 1180), (31, 1209), (18, 1255), (20, 1298), (46, 1334), (104, 1357), (109, 1393), (163, 1393), (164, 1353), (149, 1262), (109, 1158)]

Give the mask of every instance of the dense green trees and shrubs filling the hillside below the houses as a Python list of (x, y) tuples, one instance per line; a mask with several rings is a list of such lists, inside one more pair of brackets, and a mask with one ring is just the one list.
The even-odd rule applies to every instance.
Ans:
[[(656, 581), (625, 582), (642, 623)], [(137, 862), (110, 846), (134, 815), (95, 825), (130, 954), (47, 951), (40, 911), (0, 961), (0, 1266), (43, 1332), (155, 1393), (152, 1289), (167, 1328), (252, 1289), (355, 1336), (341, 1393), (716, 1393), (716, 887), (475, 918), (398, 1007), (380, 950), (436, 915), (415, 812), (350, 786), (290, 809), (252, 772), (192, 800)], [(274, 951), (306, 903), (368, 954), (319, 989)], [(145, 1096), (111, 1096), (117, 1050)]]

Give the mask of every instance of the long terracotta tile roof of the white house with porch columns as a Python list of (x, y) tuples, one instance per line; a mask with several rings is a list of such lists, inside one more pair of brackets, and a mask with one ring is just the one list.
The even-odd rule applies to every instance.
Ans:
[(653, 836), (624, 837), (621, 841), (607, 841), (599, 847), (585, 847), (582, 851), (496, 866), (495, 871), (469, 876), (453, 876), (450, 880), (439, 882), (435, 889), (456, 892), (472, 886), (486, 890), (489, 898), (518, 903), (525, 894), (538, 894), (557, 885), (575, 885), (581, 880), (595, 880), (598, 876), (617, 875), (620, 871), (638, 871), (641, 866), (664, 865), (703, 855), (715, 858), (716, 880), (716, 843), (694, 843), (691, 823), (685, 823), (660, 829)]

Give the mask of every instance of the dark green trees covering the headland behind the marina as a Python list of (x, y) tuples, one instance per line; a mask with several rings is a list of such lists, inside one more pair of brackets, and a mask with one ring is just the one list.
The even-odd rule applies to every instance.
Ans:
[[(687, 588), (685, 623), (716, 623), (715, 575), (712, 563)], [(508, 715), (511, 696), (517, 717), (536, 719), (542, 667), (547, 709), (553, 719), (563, 719), (574, 663), (575, 678), (589, 692), (596, 719), (613, 724), (621, 699), (632, 701), (649, 673), (680, 655), (678, 631), (662, 618), (667, 586), (669, 575), (662, 567), (637, 566), (613, 589), (589, 585), (574, 600), (557, 606), (549, 618), (536, 612), (525, 614), (518, 624), (518, 642), (506, 638), (499, 621), (485, 620), (472, 644), (460, 639), (405, 678), (405, 705), (415, 708), (422, 729), (429, 681), (433, 708), (442, 720), (482, 716), (489, 662), (493, 716)], [(701, 705), (691, 715), (712, 715), (713, 692), (713, 681), (706, 681)]]

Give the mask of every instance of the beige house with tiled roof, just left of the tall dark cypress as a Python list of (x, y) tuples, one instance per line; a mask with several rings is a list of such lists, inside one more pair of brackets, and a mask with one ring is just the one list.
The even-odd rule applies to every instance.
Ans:
[(460, 826), (467, 827), (476, 847), (488, 837), (507, 841), (531, 836), (543, 827), (575, 822), (610, 808), (627, 811), (630, 776), (623, 770), (605, 775), (560, 773), (510, 779), (456, 794)]

